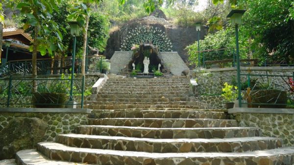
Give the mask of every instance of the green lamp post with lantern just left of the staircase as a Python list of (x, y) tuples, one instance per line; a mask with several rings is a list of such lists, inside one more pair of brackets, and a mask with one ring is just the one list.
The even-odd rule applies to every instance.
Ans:
[(75, 42), (76, 36), (79, 35), (79, 25), (76, 21), (68, 22), (71, 26), (71, 35), (73, 36), (73, 55), (72, 55), (72, 76), (71, 76), (71, 91), (70, 91), (70, 101), (73, 101), (73, 77), (74, 77), (74, 59), (75, 59)]

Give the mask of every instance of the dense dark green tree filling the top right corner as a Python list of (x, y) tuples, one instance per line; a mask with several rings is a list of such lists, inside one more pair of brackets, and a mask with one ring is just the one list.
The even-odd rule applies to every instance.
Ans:
[(253, 37), (252, 48), (255, 54), (263, 60), (293, 63), (294, 2), (291, 0), (241, 0), (240, 6), (247, 9), (242, 33), (248, 38)]

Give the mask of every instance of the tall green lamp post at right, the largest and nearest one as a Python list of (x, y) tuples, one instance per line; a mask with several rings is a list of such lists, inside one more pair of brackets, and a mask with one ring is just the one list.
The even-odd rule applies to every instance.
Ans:
[(239, 55), (239, 34), (238, 34), (238, 25), (242, 23), (242, 16), (246, 10), (232, 10), (227, 18), (231, 19), (231, 23), (235, 24), (235, 33), (236, 33), (236, 61), (237, 61), (237, 82), (238, 82), (238, 101), (239, 107), (241, 107), (241, 77), (240, 77), (240, 55)]

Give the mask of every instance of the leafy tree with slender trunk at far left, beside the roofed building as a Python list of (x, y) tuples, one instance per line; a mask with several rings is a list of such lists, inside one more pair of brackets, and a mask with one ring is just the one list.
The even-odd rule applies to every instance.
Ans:
[[(52, 21), (52, 12), (57, 10), (56, 4), (60, 0), (10, 0), (8, 6), (17, 7), (25, 14), (26, 21), (24, 29), (34, 28), (33, 44), (29, 50), (32, 51), (32, 78), (37, 76), (37, 51), (45, 55), (47, 51), (52, 54), (56, 49), (62, 50), (62, 35), (56, 22)], [(54, 34), (54, 35), (52, 35)], [(33, 81), (32, 92), (37, 92), (37, 82)]]

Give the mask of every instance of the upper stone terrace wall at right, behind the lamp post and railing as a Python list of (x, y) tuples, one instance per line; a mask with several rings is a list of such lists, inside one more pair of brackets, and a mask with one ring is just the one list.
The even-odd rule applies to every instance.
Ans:
[[(269, 79), (267, 76), (250, 76), (250, 78), (258, 79), (258, 82), (264, 84), (267, 84), (269, 80), (270, 87), (285, 90), (289, 88), (285, 82), (288, 78), (270, 77), (270, 75), (288, 75), (292, 77), (293, 70), (294, 67), (241, 67), (241, 74), (250, 72), (251, 75), (266, 75), (268, 73)], [(236, 68), (204, 69), (197, 73), (193, 73), (192, 71), (192, 76), (196, 78), (196, 82), (198, 83), (197, 93), (199, 100), (211, 104), (214, 108), (225, 107), (225, 101), (221, 97), (223, 83), (228, 82), (229, 84), (237, 85)], [(246, 83), (247, 77), (241, 76), (241, 82)]]

